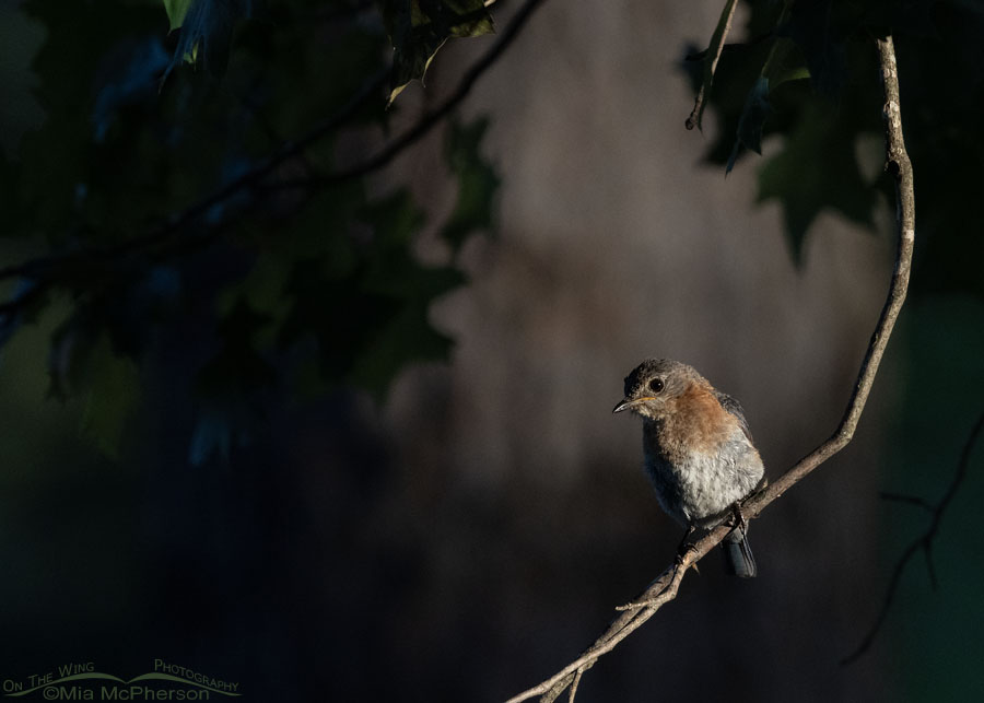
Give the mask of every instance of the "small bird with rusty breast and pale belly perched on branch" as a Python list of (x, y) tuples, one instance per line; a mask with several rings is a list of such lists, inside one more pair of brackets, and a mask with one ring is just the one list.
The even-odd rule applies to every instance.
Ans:
[[(625, 397), (612, 412), (643, 419), (646, 472), (667, 514), (688, 528), (719, 525), (738, 501), (764, 484), (765, 469), (741, 406), (687, 364), (647, 359), (625, 377)], [(729, 571), (758, 573), (738, 525), (722, 547)]]

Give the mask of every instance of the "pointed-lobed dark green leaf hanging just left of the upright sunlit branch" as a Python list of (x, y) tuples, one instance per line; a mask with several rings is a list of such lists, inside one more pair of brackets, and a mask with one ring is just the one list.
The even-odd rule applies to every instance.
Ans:
[(794, 260), (816, 216), (827, 208), (860, 224), (871, 224), (875, 190), (858, 168), (853, 126), (821, 99), (809, 104), (786, 138), (783, 151), (759, 171), (759, 202), (783, 207)]

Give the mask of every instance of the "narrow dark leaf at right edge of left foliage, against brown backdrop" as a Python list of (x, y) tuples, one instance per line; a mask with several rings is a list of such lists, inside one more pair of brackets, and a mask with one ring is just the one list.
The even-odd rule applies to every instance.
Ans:
[(447, 132), (445, 155), (458, 178), (458, 199), (442, 235), (456, 251), (471, 232), (492, 226), (493, 203), (502, 180), (479, 151), (488, 128), (489, 119), (480, 117), (471, 125), (455, 120)]

